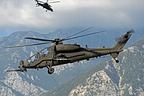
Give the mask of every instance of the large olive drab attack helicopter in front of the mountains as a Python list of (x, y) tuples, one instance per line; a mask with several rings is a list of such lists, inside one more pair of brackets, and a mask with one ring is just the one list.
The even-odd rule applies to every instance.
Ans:
[(22, 45), (22, 46), (11, 46), (8, 48), (34, 46), (34, 45), (41, 45), (41, 44), (48, 44), (48, 43), (54, 43), (54, 44), (50, 47), (46, 47), (42, 49), (40, 52), (29, 57), (27, 60), (20, 60), (19, 69), (8, 70), (8, 72), (10, 71), (25, 72), (27, 71), (27, 69), (39, 69), (39, 68), (46, 67), (48, 69), (48, 73), (52, 74), (54, 72), (53, 66), (78, 62), (81, 60), (89, 60), (90, 58), (94, 58), (94, 57), (97, 58), (108, 54), (110, 54), (112, 58), (115, 60), (115, 62), (118, 63), (119, 60), (117, 59), (117, 57), (119, 53), (123, 51), (123, 47), (131, 37), (133, 30), (128, 31), (126, 34), (122, 35), (118, 39), (116, 44), (111, 48), (87, 48), (87, 47), (84, 48), (78, 44), (63, 44), (63, 41), (66, 40), (76, 39), (76, 38), (102, 33), (102, 32), (104, 31), (93, 32), (93, 33), (79, 35), (79, 36), (74, 36), (76, 34), (73, 34), (63, 39), (56, 38), (54, 40), (25, 37), (24, 39), (43, 41), (43, 43)]

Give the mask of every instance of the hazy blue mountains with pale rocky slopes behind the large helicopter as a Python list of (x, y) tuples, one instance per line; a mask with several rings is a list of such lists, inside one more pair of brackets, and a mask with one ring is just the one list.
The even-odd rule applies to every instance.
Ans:
[[(69, 35), (69, 33), (61, 31), (48, 34), (31, 31), (16, 32), (0, 38), (0, 94), (2, 96), (144, 95), (144, 40), (125, 49), (119, 56), (119, 64), (115, 64), (111, 58), (106, 57), (58, 66), (55, 67), (56, 71), (52, 75), (47, 74), (46, 68), (39, 71), (28, 70), (25, 73), (6, 72), (7, 69), (16, 69), (19, 60), (27, 59), (48, 45), (16, 49), (6, 49), (5, 46), (37, 43), (22, 39), (27, 36), (53, 39), (60, 36), (64, 38)], [(108, 39), (107, 42), (104, 40), (105, 35), (98, 34), (94, 37), (92, 39), (91, 36), (88, 36), (86, 39), (77, 39), (68, 41), (68, 43), (78, 42), (82, 46), (88, 44), (89, 47), (102, 47), (101, 44), (107, 42), (112, 44), (106, 44), (106, 46), (114, 44), (111, 40), (115, 36), (109, 36), (112, 39)], [(99, 39), (99, 37), (101, 38)], [(98, 64), (100, 61), (103, 63)]]

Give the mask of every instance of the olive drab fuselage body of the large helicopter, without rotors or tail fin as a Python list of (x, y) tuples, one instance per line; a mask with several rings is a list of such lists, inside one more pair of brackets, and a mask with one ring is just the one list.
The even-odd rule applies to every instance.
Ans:
[(50, 47), (50, 52), (47, 54), (39, 53), (36, 54), (35, 60), (29, 61), (28, 59), (24, 61), (24, 67), (43, 68), (49, 65), (57, 66), (119, 52), (113, 48), (83, 48), (77, 44), (60, 44), (56, 45), (56, 52), (53, 52), (52, 50), (54, 50), (53, 46)]

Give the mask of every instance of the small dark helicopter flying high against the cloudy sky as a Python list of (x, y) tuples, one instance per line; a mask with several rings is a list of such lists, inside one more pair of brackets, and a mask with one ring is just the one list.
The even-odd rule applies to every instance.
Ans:
[(60, 2), (60, 1), (53, 1), (53, 2), (48, 3), (48, 0), (47, 0), (47, 2), (42, 2), (42, 1), (38, 1), (38, 0), (35, 0), (35, 1), (37, 3), (36, 5), (45, 8), (46, 12), (47, 12), (47, 10), (53, 12), (52, 6), (49, 5), (49, 3), (58, 3), (58, 2)]

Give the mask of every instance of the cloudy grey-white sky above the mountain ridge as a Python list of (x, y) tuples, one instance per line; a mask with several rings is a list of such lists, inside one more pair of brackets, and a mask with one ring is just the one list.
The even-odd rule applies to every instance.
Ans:
[(54, 12), (35, 4), (35, 0), (1, 0), (0, 36), (71, 27), (144, 28), (144, 0), (60, 0), (51, 4)]

